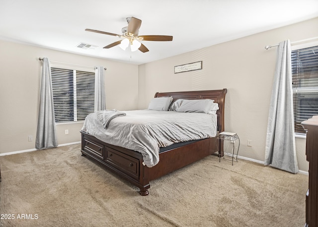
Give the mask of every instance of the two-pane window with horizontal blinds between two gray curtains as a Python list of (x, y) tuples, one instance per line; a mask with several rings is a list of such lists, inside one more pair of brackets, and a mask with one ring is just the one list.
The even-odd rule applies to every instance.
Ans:
[(85, 119), (94, 112), (95, 73), (51, 67), (55, 122)]

